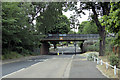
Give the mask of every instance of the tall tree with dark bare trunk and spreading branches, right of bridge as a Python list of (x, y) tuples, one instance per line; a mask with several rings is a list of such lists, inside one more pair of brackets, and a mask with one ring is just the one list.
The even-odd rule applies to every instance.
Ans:
[(100, 50), (99, 55), (103, 56), (105, 53), (105, 26), (102, 26), (99, 21), (99, 16), (109, 15), (110, 3), (109, 2), (79, 2), (80, 6), (77, 6), (78, 2), (68, 2), (66, 9), (75, 10), (77, 16), (81, 16), (80, 13), (85, 14), (84, 10), (91, 10), (91, 18), (96, 23), (98, 27), (98, 32), (100, 35)]

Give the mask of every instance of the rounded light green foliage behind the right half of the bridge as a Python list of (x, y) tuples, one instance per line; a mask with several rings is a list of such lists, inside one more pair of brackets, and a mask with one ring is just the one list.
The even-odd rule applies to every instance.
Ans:
[(78, 29), (79, 34), (98, 34), (97, 26), (93, 21), (83, 21)]

